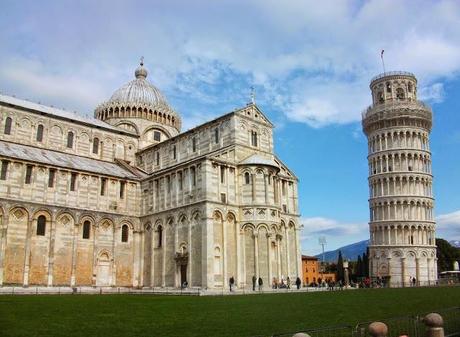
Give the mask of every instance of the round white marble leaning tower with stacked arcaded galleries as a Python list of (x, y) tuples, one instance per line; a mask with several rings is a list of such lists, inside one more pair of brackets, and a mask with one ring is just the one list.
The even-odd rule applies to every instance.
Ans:
[(387, 72), (372, 79), (363, 112), (369, 163), (369, 270), (391, 286), (437, 279), (430, 107), (417, 79)]

